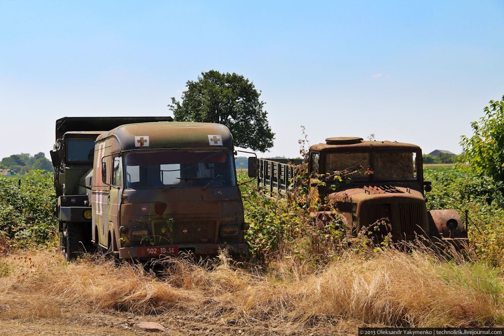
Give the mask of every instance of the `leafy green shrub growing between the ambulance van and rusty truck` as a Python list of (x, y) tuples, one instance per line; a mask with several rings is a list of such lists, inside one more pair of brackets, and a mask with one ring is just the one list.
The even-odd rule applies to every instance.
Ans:
[[(243, 183), (246, 175), (239, 173), (238, 178)], [(301, 166), (295, 181), (298, 186), (291, 188), (287, 197), (270, 197), (269, 191), (258, 188), (256, 180), (241, 185), (245, 222), (250, 225), (245, 239), (253, 258), (268, 262), (294, 257), (318, 265), (333, 260), (349, 246), (356, 253), (369, 251), (369, 229), (354, 236), (338, 217), (317, 222), (309, 216), (310, 195), (303, 179)]]

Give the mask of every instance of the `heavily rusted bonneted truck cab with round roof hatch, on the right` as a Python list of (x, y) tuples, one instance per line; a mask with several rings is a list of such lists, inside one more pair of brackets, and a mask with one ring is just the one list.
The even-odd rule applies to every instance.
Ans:
[[(356, 231), (385, 221), (396, 240), (467, 238), (455, 210), (427, 212), (424, 189), (429, 191), (430, 183), (423, 180), (422, 151), (416, 145), (328, 138), (310, 147), (309, 172), (310, 192)], [(315, 217), (327, 213), (314, 211)]]

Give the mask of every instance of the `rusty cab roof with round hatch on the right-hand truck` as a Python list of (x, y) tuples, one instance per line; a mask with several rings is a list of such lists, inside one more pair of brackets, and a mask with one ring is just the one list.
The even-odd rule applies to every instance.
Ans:
[[(342, 139), (339, 141), (339, 139)], [(346, 139), (346, 140), (343, 140)], [(348, 141), (352, 139), (353, 141)], [(328, 138), (326, 144), (310, 146), (312, 151), (361, 152), (361, 151), (420, 151), (420, 147), (413, 144), (398, 143), (397, 141), (363, 141), (361, 138)]]

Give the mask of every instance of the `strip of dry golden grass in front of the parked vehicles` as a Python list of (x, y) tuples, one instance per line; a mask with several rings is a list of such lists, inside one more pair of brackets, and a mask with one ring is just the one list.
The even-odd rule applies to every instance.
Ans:
[(502, 324), (502, 279), (478, 263), (448, 263), (426, 252), (345, 254), (318, 272), (292, 259), (267, 272), (165, 261), (164, 276), (140, 265), (91, 259), (65, 263), (53, 250), (0, 259), (0, 318), (71, 317), (116, 309), (139, 314), (183, 310), (293, 324), (390, 326)]

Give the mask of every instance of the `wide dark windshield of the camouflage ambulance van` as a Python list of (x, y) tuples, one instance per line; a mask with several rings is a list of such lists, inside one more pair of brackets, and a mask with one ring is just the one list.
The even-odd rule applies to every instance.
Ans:
[(145, 151), (125, 157), (127, 188), (234, 186), (233, 156), (225, 151)]

